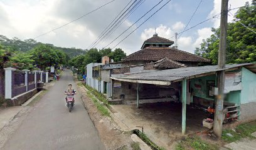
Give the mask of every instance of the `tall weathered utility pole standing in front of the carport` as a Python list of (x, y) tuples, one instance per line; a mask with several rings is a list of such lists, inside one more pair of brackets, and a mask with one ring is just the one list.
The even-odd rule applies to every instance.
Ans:
[[(227, 47), (228, 0), (221, 0), (220, 46), (218, 52), (218, 68), (225, 68)], [(225, 71), (218, 72), (218, 96), (216, 96), (213, 133), (221, 138), (223, 124)]]

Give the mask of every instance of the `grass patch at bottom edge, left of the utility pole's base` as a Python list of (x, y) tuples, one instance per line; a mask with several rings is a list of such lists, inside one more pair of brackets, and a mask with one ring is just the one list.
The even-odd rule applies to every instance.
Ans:
[(176, 150), (200, 149), (200, 150), (217, 150), (218, 146), (203, 141), (198, 136), (187, 137), (181, 140), (175, 147)]

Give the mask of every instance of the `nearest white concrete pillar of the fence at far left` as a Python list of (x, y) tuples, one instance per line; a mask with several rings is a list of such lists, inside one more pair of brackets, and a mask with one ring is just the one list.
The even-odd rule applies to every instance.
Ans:
[(13, 84), (12, 78), (13, 78), (13, 71), (16, 69), (14, 68), (4, 68), (5, 72), (5, 99), (11, 99), (12, 98), (12, 91), (13, 91)]

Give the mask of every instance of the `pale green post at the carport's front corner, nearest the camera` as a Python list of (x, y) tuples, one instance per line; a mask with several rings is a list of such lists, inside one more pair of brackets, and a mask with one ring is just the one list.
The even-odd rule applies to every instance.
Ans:
[(186, 79), (182, 81), (182, 134), (186, 133)]

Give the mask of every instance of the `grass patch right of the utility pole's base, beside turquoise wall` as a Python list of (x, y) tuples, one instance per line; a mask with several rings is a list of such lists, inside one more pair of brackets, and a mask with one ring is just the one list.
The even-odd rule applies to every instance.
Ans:
[[(242, 138), (255, 139), (255, 137), (251, 135), (254, 132), (256, 132), (256, 121), (240, 124), (235, 128), (235, 131), (231, 129), (223, 130), (221, 139), (227, 143), (232, 143)], [(231, 134), (232, 136), (228, 136), (228, 134)]]

